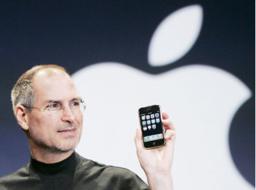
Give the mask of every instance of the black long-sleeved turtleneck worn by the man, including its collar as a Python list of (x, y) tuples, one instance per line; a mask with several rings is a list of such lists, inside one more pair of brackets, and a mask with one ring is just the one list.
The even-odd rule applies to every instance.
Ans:
[(134, 173), (106, 166), (72, 153), (61, 162), (47, 164), (33, 158), (14, 173), (0, 178), (0, 190), (147, 190)]

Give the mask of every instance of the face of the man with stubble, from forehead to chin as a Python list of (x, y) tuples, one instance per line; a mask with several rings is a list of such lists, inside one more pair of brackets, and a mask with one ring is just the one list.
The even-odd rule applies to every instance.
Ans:
[[(53, 111), (33, 108), (29, 114), (30, 146), (50, 152), (74, 150), (78, 145), (83, 125), (83, 115), (74, 115), (69, 105), (78, 92), (67, 74), (59, 72), (47, 76), (44, 71), (35, 75), (33, 87), (37, 99), (33, 107), (48, 108), (50, 102), (59, 102), (64, 110)], [(60, 114), (57, 114), (57, 113)]]

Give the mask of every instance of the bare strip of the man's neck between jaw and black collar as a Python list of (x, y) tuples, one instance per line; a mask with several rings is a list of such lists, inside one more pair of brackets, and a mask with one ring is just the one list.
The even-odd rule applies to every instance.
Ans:
[(44, 150), (38, 150), (38, 149), (30, 148), (30, 150), (31, 150), (32, 158), (44, 163), (56, 163), (56, 162), (63, 161), (74, 152), (74, 150), (71, 150), (64, 153), (50, 153), (49, 151), (46, 152)]

